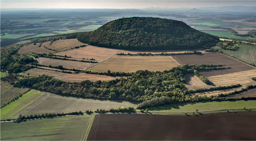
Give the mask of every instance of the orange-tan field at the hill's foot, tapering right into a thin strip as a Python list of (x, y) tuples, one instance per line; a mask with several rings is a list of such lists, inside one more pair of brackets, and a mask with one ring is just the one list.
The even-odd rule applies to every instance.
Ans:
[[(202, 51), (205, 49), (196, 49), (198, 51)], [(102, 62), (111, 56), (114, 56), (117, 53), (131, 53), (131, 54), (137, 54), (137, 53), (183, 53), (183, 52), (193, 52), (194, 50), (152, 50), (152, 51), (131, 51), (131, 50), (121, 50), (121, 49), (112, 49), (112, 48), (104, 48), (104, 47), (96, 47), (88, 45), (86, 47), (78, 48), (78, 49), (71, 49), (66, 50), (62, 52), (55, 53), (56, 55), (62, 55), (62, 56), (70, 56), (72, 58), (85, 58), (85, 59), (95, 59), (98, 62)]]

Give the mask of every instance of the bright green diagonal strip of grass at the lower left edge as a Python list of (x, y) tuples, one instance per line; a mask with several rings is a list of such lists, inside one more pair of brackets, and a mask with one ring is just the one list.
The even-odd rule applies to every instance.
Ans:
[(9, 119), (12, 118), (15, 114), (17, 114), (22, 109), (26, 108), (34, 101), (43, 96), (45, 92), (40, 92), (32, 89), (31, 91), (24, 94), (18, 100), (11, 102), (9, 105), (0, 109), (0, 118), (1, 119)]

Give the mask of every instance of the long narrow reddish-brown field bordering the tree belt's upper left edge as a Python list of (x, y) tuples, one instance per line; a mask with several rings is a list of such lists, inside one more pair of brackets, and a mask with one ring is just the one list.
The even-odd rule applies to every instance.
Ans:
[(54, 78), (63, 80), (66, 82), (81, 82), (83, 80), (90, 80), (95, 82), (97, 80), (109, 81), (113, 79), (122, 78), (123, 76), (108, 76), (108, 75), (98, 75), (98, 74), (87, 74), (87, 73), (72, 73), (66, 75), (55, 76)]

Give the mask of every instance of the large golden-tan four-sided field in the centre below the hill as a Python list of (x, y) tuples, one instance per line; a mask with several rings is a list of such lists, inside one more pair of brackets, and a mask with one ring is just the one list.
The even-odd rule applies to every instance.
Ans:
[(122, 56), (112, 58), (95, 65), (88, 70), (105, 72), (135, 72), (137, 70), (163, 71), (176, 67), (179, 63), (172, 56)]

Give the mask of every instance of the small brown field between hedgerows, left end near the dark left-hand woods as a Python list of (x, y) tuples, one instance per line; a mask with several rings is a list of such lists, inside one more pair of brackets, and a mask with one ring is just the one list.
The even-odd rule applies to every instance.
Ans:
[(37, 74), (37, 75), (48, 75), (48, 76), (58, 76), (58, 75), (63, 75), (66, 73), (58, 72), (58, 71), (52, 71), (52, 70), (44, 70), (44, 69), (38, 69), (38, 68), (33, 68), (30, 70), (27, 70), (26, 73), (31, 73), (31, 74)]

